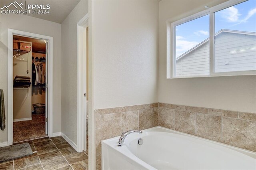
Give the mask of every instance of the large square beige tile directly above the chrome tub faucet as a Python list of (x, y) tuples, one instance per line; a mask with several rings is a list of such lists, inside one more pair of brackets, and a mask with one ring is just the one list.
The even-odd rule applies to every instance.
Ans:
[(122, 132), (139, 129), (139, 111), (122, 113)]

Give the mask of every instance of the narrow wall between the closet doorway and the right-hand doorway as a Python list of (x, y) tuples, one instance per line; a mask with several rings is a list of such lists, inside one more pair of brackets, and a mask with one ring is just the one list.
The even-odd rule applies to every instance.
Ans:
[(88, 13), (81, 0), (62, 22), (62, 132), (77, 144), (77, 22)]

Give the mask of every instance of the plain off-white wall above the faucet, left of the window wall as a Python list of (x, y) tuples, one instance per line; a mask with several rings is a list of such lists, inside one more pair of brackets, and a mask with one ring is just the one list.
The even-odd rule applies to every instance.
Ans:
[(93, 1), (92, 55), (94, 109), (157, 102), (158, 1)]

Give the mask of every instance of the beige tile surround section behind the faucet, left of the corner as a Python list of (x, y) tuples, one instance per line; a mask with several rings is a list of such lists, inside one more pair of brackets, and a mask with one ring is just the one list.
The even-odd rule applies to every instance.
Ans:
[(94, 111), (96, 168), (101, 169), (101, 140), (120, 136), (127, 130), (158, 126), (158, 103)]

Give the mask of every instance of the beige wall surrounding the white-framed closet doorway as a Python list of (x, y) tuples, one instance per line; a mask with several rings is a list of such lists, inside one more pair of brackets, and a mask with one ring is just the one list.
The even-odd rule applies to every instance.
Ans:
[(1, 14), (0, 89), (4, 89), (6, 129), (0, 130), (0, 142), (7, 141), (8, 121), (8, 28), (53, 37), (53, 132), (61, 131), (61, 24), (26, 15)]

